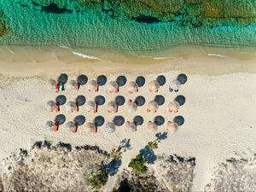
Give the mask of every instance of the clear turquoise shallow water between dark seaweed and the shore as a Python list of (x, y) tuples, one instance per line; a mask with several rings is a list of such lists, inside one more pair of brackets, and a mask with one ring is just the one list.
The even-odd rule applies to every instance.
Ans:
[(46, 13), (19, 1), (0, 0), (9, 28), (0, 44), (54, 45), (72, 48), (155, 52), (178, 45), (256, 46), (256, 23), (248, 26), (190, 27), (175, 22), (113, 20), (102, 11)]

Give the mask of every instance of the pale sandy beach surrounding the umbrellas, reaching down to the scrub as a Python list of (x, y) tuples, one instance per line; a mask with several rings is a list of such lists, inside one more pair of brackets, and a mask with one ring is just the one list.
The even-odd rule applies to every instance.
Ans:
[[(210, 182), (213, 168), (218, 163), (235, 156), (236, 152), (243, 153), (256, 148), (254, 57), (241, 60), (212, 55), (190, 55), (187, 58), (157, 60), (156, 63), (148, 65), (131, 64), (131, 61), (125, 59), (118, 63), (91, 59), (80, 61), (80, 58), (79, 61), (69, 62), (62, 62), (54, 57), (43, 58), (42, 61), (22, 61), (22, 58), (18, 61), (17, 58), (18, 56), (15, 59), (5, 57), (0, 61), (0, 158), (9, 156), (15, 149), (30, 148), (34, 142), (44, 139), (73, 145), (96, 144), (110, 151), (121, 140), (130, 138), (131, 150), (123, 154), (122, 166), (126, 167), (131, 158), (155, 138), (154, 133), (145, 131), (145, 122), (153, 120), (156, 115), (162, 115), (166, 121), (172, 120), (175, 115), (182, 115), (185, 119), (184, 125), (178, 129), (176, 135), (169, 134), (159, 144), (156, 153), (195, 157), (193, 190), (201, 191)], [(145, 113), (146, 105), (136, 113), (128, 113), (124, 106), (120, 107), (118, 114), (124, 116), (125, 120), (131, 120), (139, 114), (144, 117), (144, 124), (132, 133), (125, 132), (124, 125), (109, 135), (104, 133), (103, 127), (99, 128), (96, 135), (86, 134), (83, 126), (73, 134), (64, 125), (60, 126), (57, 133), (49, 132), (44, 128), (45, 122), (54, 120), (56, 113), (47, 113), (44, 106), (49, 100), (55, 100), (57, 95), (54, 90), (47, 89), (46, 82), (48, 79), (57, 79), (60, 73), (67, 73), (69, 79), (76, 79), (79, 74), (96, 79), (98, 75), (104, 74), (108, 81), (123, 74), (127, 82), (143, 75), (146, 84), (162, 74), (167, 81), (160, 87), (157, 95), (165, 96), (166, 103), (177, 95), (183, 95), (186, 102), (177, 114), (166, 113), (166, 103), (160, 106), (157, 114)], [(168, 83), (176, 79), (179, 73), (186, 73), (188, 82), (183, 84), (178, 93), (170, 93)], [(149, 93), (146, 84), (134, 95), (129, 95), (124, 86), (118, 95), (125, 96), (126, 100), (145, 96), (147, 102), (154, 99), (155, 94)], [(88, 92), (86, 85), (81, 86), (79, 92), (65, 90), (61, 94), (67, 96), (67, 101), (73, 101), (79, 95), (84, 95), (86, 101), (102, 95), (108, 102), (115, 96), (108, 94), (107, 85), (101, 87), (97, 94)], [(111, 121), (114, 116), (106, 113), (107, 102), (96, 113), (104, 116), (105, 122)], [(79, 113), (67, 113), (61, 107), (61, 113), (65, 114), (67, 121), (79, 114), (85, 116), (86, 122), (95, 117), (94, 113), (85, 112), (84, 106)], [(159, 127), (160, 132), (165, 129), (166, 123)]]

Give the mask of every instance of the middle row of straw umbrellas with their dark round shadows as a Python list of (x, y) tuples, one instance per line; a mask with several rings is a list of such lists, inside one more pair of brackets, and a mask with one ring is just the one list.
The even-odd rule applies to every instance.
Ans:
[[(185, 103), (186, 98), (184, 96), (177, 96), (174, 101), (169, 102), (167, 104), (168, 112), (177, 113), (178, 109), (183, 106)], [(59, 112), (60, 106), (64, 105), (67, 102), (66, 96), (57, 96), (55, 101), (48, 101), (46, 102), (46, 110), (48, 112)], [(65, 105), (65, 108), (67, 112), (74, 112), (79, 111), (79, 107), (83, 106), (85, 104), (85, 108), (87, 112), (97, 112), (98, 106), (103, 105), (106, 102), (104, 96), (96, 96), (94, 101), (88, 101), (86, 102), (85, 96), (78, 96), (75, 101), (67, 102)], [(137, 111), (137, 108), (140, 106), (143, 106), (145, 104), (146, 100), (143, 96), (137, 96), (134, 100), (128, 100), (127, 108), (130, 112)], [(166, 99), (164, 96), (155, 96), (154, 100), (149, 101), (147, 105), (147, 112), (154, 112), (156, 113), (158, 108), (160, 108), (161, 105), (163, 105), (166, 102)], [(116, 96), (113, 101), (108, 102), (107, 104), (107, 111), (108, 113), (117, 113), (120, 106), (123, 106), (125, 104), (125, 97), (124, 96)]]

